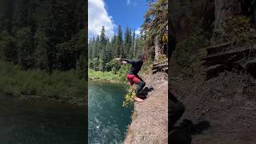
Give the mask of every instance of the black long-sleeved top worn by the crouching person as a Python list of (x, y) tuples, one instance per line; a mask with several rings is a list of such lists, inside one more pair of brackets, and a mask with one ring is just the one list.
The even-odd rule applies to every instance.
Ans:
[(138, 74), (139, 70), (141, 70), (143, 61), (142, 59), (140, 60), (131, 60), (131, 59), (125, 59), (121, 58), (122, 61), (126, 61), (127, 63), (131, 64), (130, 72), (129, 74)]

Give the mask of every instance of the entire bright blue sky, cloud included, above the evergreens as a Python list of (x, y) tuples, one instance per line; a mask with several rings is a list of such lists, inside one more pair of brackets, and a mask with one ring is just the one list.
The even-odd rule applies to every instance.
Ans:
[(117, 33), (119, 25), (123, 32), (126, 26), (138, 32), (148, 7), (146, 0), (89, 0), (88, 4), (89, 38), (99, 34), (102, 26), (110, 38)]

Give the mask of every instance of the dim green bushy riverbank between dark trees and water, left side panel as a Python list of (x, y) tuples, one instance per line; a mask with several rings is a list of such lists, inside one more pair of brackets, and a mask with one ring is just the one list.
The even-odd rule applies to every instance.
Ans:
[(14, 97), (42, 98), (70, 104), (85, 103), (87, 81), (77, 70), (21, 70), (19, 66), (0, 61), (0, 93)]

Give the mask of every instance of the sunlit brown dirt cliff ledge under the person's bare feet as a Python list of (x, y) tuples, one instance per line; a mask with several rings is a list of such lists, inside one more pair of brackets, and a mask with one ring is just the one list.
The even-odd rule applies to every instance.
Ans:
[(168, 143), (168, 81), (166, 73), (143, 74), (152, 86), (144, 102), (134, 103), (134, 114), (125, 144)]

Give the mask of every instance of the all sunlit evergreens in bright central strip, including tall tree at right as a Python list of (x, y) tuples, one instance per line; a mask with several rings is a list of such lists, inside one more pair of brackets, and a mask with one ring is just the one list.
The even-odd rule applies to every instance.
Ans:
[[(118, 71), (121, 68), (120, 63), (113, 58), (136, 58), (136, 54), (147, 54), (148, 60), (154, 59), (154, 38), (162, 38), (163, 30), (168, 25), (168, 1), (147, 0), (148, 10), (144, 14), (144, 22), (141, 26), (139, 38), (135, 37), (134, 31), (126, 27), (124, 36), (122, 28), (118, 26), (118, 34), (113, 38), (107, 38), (104, 26), (101, 34), (96, 38), (90, 39), (88, 46), (90, 69), (102, 71)], [(135, 51), (134, 51), (135, 44)]]

